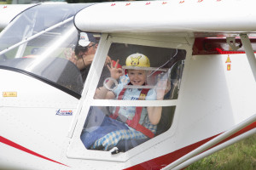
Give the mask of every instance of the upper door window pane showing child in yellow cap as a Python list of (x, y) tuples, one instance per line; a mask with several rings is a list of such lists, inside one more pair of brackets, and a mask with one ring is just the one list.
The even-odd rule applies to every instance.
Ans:
[(95, 99), (109, 99), (108, 94), (102, 96), (102, 88), (113, 93), (112, 99), (120, 99), (124, 88), (129, 94), (135, 89), (149, 89), (148, 99), (160, 99), (154, 92), (164, 90), (162, 99), (177, 99), (185, 54), (182, 49), (113, 43), (108, 53), (112, 61), (103, 68)]

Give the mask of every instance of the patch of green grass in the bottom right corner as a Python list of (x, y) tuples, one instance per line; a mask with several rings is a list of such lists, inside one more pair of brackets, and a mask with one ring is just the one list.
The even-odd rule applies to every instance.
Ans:
[(186, 168), (186, 170), (256, 170), (256, 134), (232, 144)]

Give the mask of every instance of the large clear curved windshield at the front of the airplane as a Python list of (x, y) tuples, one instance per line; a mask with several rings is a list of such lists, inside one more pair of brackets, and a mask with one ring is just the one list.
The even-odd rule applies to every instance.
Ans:
[(29, 8), (0, 35), (0, 68), (26, 73), (79, 98), (84, 81), (69, 61), (78, 41), (73, 15), (90, 4)]

